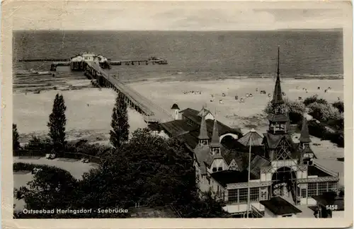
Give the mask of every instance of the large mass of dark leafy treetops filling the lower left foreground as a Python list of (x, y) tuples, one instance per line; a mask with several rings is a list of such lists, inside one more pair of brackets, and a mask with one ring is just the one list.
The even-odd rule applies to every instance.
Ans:
[[(117, 152), (119, 151), (119, 153)], [(98, 168), (74, 181), (65, 173), (43, 171), (25, 192), (28, 209), (128, 209), (139, 202), (151, 207), (173, 204), (184, 217), (224, 217), (211, 196), (200, 199), (193, 158), (177, 139), (138, 129), (130, 141), (108, 151)], [(59, 171), (58, 171), (59, 172)], [(59, 203), (57, 203), (59, 202)], [(28, 215), (20, 217), (29, 217)], [(126, 218), (129, 213), (43, 215), (46, 218)]]

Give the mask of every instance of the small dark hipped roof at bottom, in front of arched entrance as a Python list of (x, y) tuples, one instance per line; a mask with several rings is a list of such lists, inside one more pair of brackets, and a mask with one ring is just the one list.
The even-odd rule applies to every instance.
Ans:
[(302, 212), (280, 196), (275, 196), (267, 201), (259, 201), (259, 203), (278, 216)]

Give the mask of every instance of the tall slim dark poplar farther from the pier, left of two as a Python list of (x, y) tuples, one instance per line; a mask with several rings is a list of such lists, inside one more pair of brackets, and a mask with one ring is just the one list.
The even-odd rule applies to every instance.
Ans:
[(63, 95), (55, 95), (52, 114), (49, 116), (49, 136), (52, 139), (53, 148), (55, 152), (59, 153), (64, 150), (65, 144), (65, 125), (67, 124), (67, 118), (65, 117), (65, 111), (67, 107), (64, 104)]

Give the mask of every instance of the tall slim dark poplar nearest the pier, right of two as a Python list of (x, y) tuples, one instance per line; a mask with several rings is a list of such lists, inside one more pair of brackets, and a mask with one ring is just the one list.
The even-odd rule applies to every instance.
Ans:
[(127, 104), (121, 93), (118, 93), (115, 99), (115, 107), (113, 107), (110, 127), (112, 127), (110, 131), (110, 143), (112, 143), (113, 147), (119, 148), (122, 146), (122, 143), (128, 141), (130, 127), (128, 123)]

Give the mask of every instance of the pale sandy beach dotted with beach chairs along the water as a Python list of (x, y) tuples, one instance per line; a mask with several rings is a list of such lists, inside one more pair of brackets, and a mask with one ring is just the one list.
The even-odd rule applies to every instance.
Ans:
[[(67, 105), (67, 136), (68, 139), (88, 139), (91, 142), (107, 142), (109, 139), (110, 119), (115, 103), (116, 93), (108, 88), (92, 88), (87, 79), (74, 79), (66, 81), (71, 87), (83, 86), (80, 90), (42, 90), (40, 94), (33, 92), (13, 93), (13, 123), (18, 126), (21, 142), (28, 141), (33, 134), (45, 136), (47, 134), (47, 120), (52, 111), (52, 101), (55, 94), (64, 95)], [(177, 103), (181, 110), (193, 108), (200, 110), (202, 104), (212, 112), (217, 112), (217, 119), (231, 127), (239, 127), (244, 132), (254, 128), (258, 133), (263, 133), (268, 122), (263, 109), (270, 98), (268, 93), (273, 92), (274, 81), (271, 78), (234, 78), (213, 81), (140, 81), (129, 83), (129, 86), (146, 96), (152, 102), (168, 111), (173, 103)], [(324, 89), (331, 86), (331, 90), (324, 93)], [(297, 89), (299, 87), (299, 89)], [(302, 88), (307, 88), (307, 93)], [(318, 90), (317, 87), (321, 87)], [(258, 88), (258, 92), (256, 92)], [(265, 90), (266, 95), (261, 95), (260, 90)], [(343, 80), (300, 80), (284, 79), (282, 90), (286, 98), (296, 100), (299, 96), (306, 98), (318, 94), (331, 102), (343, 99)], [(198, 93), (184, 93), (197, 91)], [(200, 92), (200, 93), (199, 93)], [(224, 93), (224, 97), (222, 96)], [(246, 93), (252, 93), (253, 98), (246, 98)], [(210, 102), (214, 95), (214, 102)], [(235, 100), (235, 95), (244, 97), (244, 102)], [(48, 99), (52, 98), (52, 99)], [(223, 104), (219, 103), (222, 99)], [(128, 111), (130, 131), (147, 127), (143, 117), (135, 110)], [(343, 156), (343, 148), (337, 148), (332, 143), (313, 138), (315, 151), (329, 151), (324, 158), (335, 160)], [(297, 139), (295, 139), (297, 141)], [(326, 153), (325, 153), (326, 154)]]

